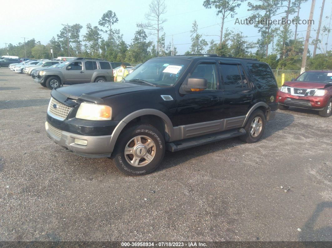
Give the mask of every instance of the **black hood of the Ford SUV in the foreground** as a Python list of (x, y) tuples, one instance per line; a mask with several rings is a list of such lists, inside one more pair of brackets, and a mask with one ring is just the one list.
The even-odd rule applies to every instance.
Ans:
[[(102, 100), (102, 98), (106, 98), (109, 96), (129, 93), (133, 91), (151, 90), (156, 88), (158, 87), (152, 87), (149, 85), (139, 85), (134, 83), (104, 82), (104, 83), (76, 84), (69, 87), (58, 88), (56, 89), (56, 91), (68, 98), (72, 99), (80, 98), (82, 100), (91, 101), (91, 99), (94, 98)], [(83, 97), (82, 95), (85, 96), (88, 95), (89, 97)]]

